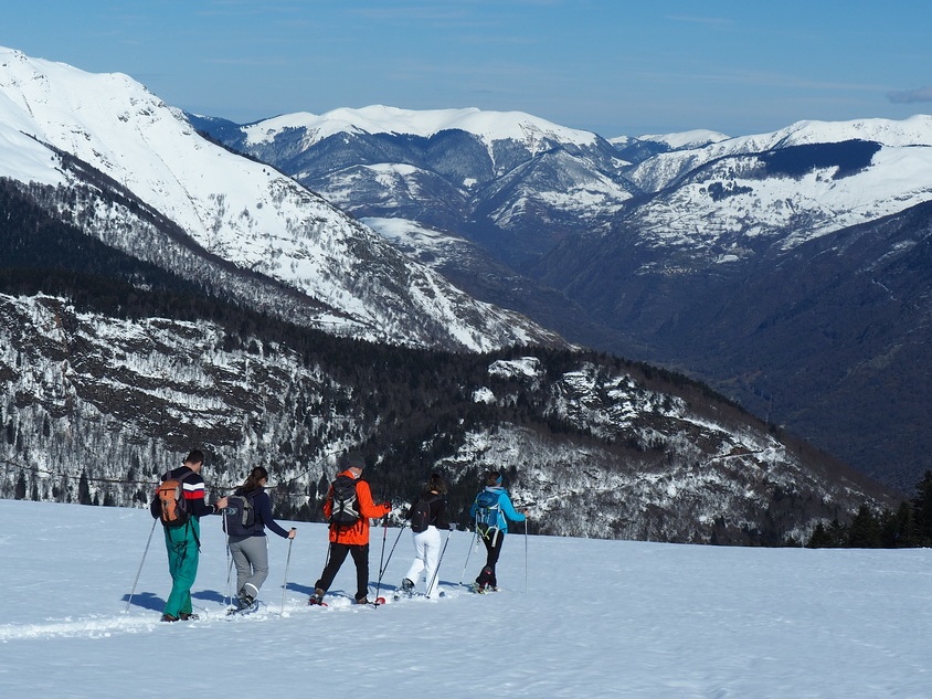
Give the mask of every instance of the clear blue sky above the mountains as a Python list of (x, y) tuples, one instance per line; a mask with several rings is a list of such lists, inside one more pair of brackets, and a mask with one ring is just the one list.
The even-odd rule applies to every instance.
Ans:
[(932, 113), (929, 0), (31, 0), (0, 45), (252, 121), (384, 104), (605, 137)]

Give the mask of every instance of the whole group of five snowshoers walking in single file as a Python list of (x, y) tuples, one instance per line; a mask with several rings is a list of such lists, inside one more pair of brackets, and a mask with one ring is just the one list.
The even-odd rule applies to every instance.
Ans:
[[(330, 484), (324, 504), (324, 515), (330, 525), (329, 550), (327, 563), (308, 600), (311, 605), (326, 606), (324, 597), (347, 555), (351, 555), (356, 564), (353, 600), (357, 604), (370, 604), (369, 520), (385, 517), (392, 511), (390, 502), (373, 500), (368, 481), (362, 479), (366, 468), (363, 457), (351, 453), (342, 462), (341, 470)], [(230, 613), (246, 612), (256, 607), (258, 592), (268, 576), (265, 530), (268, 529), (285, 539), (294, 539), (297, 534), (296, 529), (286, 530), (273, 519), (272, 501), (265, 491), (268, 484), (268, 472), (265, 468), (254, 467), (243, 485), (235, 488), (230, 496), (221, 497), (214, 505), (208, 505), (204, 497), (204, 479), (201, 476), (203, 464), (203, 452), (192, 451), (180, 467), (162, 476), (151, 502), (152, 517), (161, 520), (163, 526), (172, 581), (171, 593), (162, 610), (163, 622), (198, 618), (191, 605), (191, 587), (198, 574), (201, 517), (223, 516), (230, 555), (236, 566), (236, 594)], [(427, 599), (443, 595), (439, 592), (437, 574), (445, 544), (442, 547), (439, 532), (443, 529), (453, 532), (456, 528), (446, 517), (446, 491), (443, 479), (437, 474), (432, 474), (423, 491), (405, 512), (405, 525), (410, 525), (412, 531), (415, 555), (395, 592), (395, 597), (422, 594), (416, 592), (422, 581), (423, 594)], [(472, 590), (477, 593), (495, 591), (498, 589), (495, 566), (501, 553), (505, 534), (508, 533), (508, 522), (526, 521), (527, 510), (519, 511), (515, 508), (502, 486), (501, 474), (493, 470), (486, 474), (485, 487), (474, 499), (469, 517), (476, 525), (476, 537), (481, 539), (487, 552), (486, 564), (473, 583)], [(380, 570), (380, 582), (382, 572)], [(383, 599), (377, 596), (372, 603), (381, 602)]]

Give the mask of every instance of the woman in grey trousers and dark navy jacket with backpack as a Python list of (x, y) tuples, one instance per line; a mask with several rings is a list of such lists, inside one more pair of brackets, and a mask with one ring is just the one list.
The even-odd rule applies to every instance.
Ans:
[(294, 539), (297, 530), (282, 528), (272, 517), (272, 500), (265, 491), (268, 472), (256, 466), (250, 472), (246, 481), (233, 491), (229, 498), (232, 505), (236, 498), (244, 498), (253, 510), (252, 525), (242, 523), (242, 512), (224, 511), (224, 528), (233, 563), (236, 565), (236, 604), (235, 611), (252, 607), (262, 584), (268, 578), (268, 544), (266, 527), (283, 539)]

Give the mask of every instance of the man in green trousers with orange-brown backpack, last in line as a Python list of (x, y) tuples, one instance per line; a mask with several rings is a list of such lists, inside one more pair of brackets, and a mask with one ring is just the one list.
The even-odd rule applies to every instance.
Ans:
[[(163, 527), (168, 570), (171, 574), (171, 593), (162, 610), (161, 621), (163, 622), (198, 618), (197, 614), (192, 614), (191, 587), (198, 576), (201, 547), (200, 518), (205, 515), (216, 515), (226, 507), (226, 498), (220, 498), (216, 505), (208, 505), (204, 501), (204, 479), (201, 477), (203, 465), (203, 452), (194, 449), (180, 468), (173, 468), (162, 476), (162, 483), (181, 481), (186, 509), (190, 515), (180, 527)], [(161, 505), (158, 497), (152, 500), (150, 510), (152, 517), (160, 517)]]

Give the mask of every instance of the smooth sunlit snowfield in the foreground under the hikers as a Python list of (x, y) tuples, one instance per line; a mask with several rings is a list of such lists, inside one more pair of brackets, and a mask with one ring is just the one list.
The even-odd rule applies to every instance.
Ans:
[[(373, 484), (378, 494), (378, 484)], [(932, 550), (672, 546), (509, 534), (497, 594), (474, 595), (481, 552), (449, 537), (444, 599), (393, 602), (412, 559), (402, 532), (388, 604), (357, 607), (348, 561), (327, 608), (307, 595), (326, 529), (269, 539), (260, 611), (226, 617), (219, 518), (203, 520), (198, 622), (158, 621), (169, 591), (158, 528), (144, 510), (0, 501), (0, 696), (163, 696), (246, 682), (267, 697), (911, 697), (932, 696)], [(287, 522), (284, 522), (287, 525)], [(399, 530), (372, 528), (372, 585)], [(447, 534), (443, 534), (446, 539)], [(468, 565), (466, 565), (468, 557)], [(423, 585), (422, 585), (423, 586)], [(346, 693), (346, 692), (340, 692)]]

